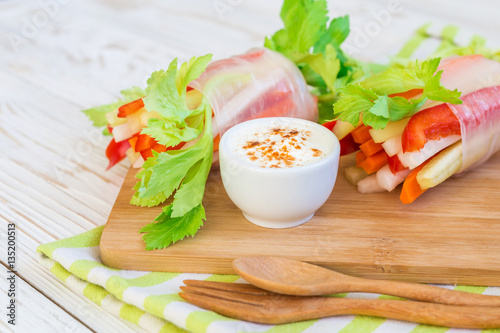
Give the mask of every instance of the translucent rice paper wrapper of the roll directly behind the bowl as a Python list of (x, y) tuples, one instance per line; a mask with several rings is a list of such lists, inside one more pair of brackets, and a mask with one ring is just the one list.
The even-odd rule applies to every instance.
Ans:
[(316, 100), (297, 66), (266, 48), (210, 63), (190, 87), (212, 106), (214, 137), (256, 118), (318, 118)]

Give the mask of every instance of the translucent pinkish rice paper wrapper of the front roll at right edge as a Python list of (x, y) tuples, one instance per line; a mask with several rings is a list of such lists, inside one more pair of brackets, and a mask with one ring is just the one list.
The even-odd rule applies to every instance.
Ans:
[(500, 150), (500, 86), (483, 88), (461, 98), (460, 105), (448, 104), (460, 121), (462, 166), (471, 170)]

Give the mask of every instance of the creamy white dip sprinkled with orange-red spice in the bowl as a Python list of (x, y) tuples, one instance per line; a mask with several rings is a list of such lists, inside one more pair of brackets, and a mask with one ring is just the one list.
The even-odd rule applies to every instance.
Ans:
[(263, 168), (291, 168), (326, 156), (327, 149), (308, 128), (273, 124), (237, 139), (235, 152)]

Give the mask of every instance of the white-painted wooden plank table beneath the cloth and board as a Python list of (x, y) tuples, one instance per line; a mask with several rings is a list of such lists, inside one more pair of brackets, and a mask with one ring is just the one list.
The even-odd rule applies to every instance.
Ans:
[[(37, 263), (39, 244), (106, 222), (127, 171), (122, 162), (105, 172), (109, 139), (80, 110), (144, 86), (174, 57), (213, 53), (217, 59), (262, 45), (281, 26), (280, 6), (269, 0), (0, 1), (0, 262), (7, 262), (7, 223), (16, 223), (20, 306), (15, 329), (2, 310), (1, 332), (143, 331), (72, 293)], [(363, 59), (386, 61), (426, 22), (435, 31), (460, 25), (461, 39), (477, 33), (500, 47), (494, 0), (331, 0), (329, 7), (332, 15), (351, 15), (347, 44)], [(390, 17), (381, 14), (394, 7)], [(371, 34), (367, 41), (363, 32)], [(6, 270), (0, 269), (2, 309)]]

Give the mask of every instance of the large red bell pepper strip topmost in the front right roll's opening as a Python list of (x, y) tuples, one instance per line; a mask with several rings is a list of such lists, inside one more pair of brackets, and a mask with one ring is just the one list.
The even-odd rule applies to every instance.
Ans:
[(401, 145), (403, 152), (417, 151), (430, 140), (439, 140), (450, 135), (460, 135), (460, 122), (446, 104), (414, 114), (406, 125)]

